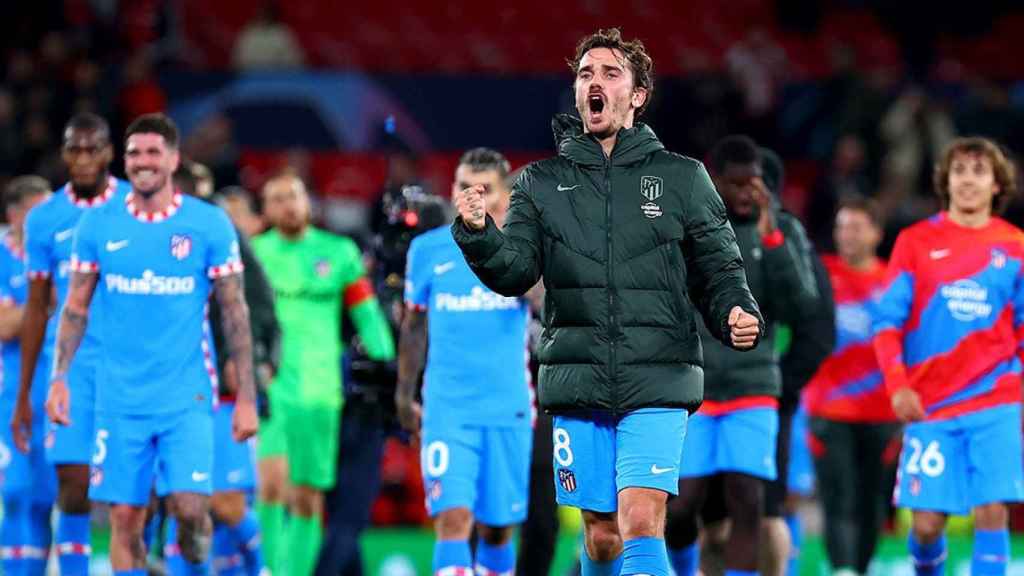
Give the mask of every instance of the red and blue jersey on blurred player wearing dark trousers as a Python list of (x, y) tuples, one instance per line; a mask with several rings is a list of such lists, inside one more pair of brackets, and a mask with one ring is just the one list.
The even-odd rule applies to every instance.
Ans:
[(874, 358), (871, 331), (886, 264), (876, 260), (871, 268), (858, 270), (831, 254), (821, 261), (836, 301), (836, 347), (804, 388), (804, 406), (812, 416), (829, 420), (892, 421), (895, 416)]

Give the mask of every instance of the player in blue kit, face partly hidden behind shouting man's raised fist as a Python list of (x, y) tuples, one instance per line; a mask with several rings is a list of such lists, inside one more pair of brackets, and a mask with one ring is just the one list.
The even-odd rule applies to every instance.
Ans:
[[(498, 152), (471, 150), (459, 161), (453, 195), (482, 186), (487, 213), (501, 225), (508, 172)], [(484, 287), (446, 225), (413, 240), (407, 268), (395, 400), (402, 426), (422, 439), (427, 507), (437, 532), (433, 573), (511, 575), (512, 532), (526, 518), (532, 440), (528, 303)], [(421, 408), (415, 398), (424, 363)]]

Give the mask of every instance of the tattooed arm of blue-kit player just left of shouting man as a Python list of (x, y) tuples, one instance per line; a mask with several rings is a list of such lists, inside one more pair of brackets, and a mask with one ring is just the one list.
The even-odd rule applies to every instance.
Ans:
[(420, 435), (423, 408), (416, 402), (416, 388), (427, 361), (427, 313), (415, 307), (406, 308), (398, 336), (398, 387), (394, 393), (401, 427), (413, 435)]

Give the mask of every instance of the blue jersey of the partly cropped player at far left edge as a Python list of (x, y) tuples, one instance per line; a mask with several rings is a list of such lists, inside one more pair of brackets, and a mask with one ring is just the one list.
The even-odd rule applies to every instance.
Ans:
[[(28, 298), (28, 283), (25, 275), (25, 252), (15, 246), (10, 234), (0, 238), (0, 305), (22, 306)], [(44, 348), (39, 357), (40, 364), (45, 366), (49, 359), (49, 349)], [(0, 380), (0, 403), (13, 406), (17, 398), (17, 381), (20, 376), (22, 346), (17, 339), (0, 342), (0, 362), (3, 363), (2, 380)], [(45, 385), (32, 386), (32, 405), (40, 409), (46, 401)]]

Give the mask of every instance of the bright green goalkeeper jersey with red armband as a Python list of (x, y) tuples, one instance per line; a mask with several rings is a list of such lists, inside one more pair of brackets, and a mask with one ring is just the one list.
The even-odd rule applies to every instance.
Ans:
[(343, 312), (351, 315), (370, 358), (394, 358), (391, 330), (358, 247), (313, 227), (295, 240), (271, 230), (254, 238), (252, 247), (273, 287), (282, 331), (270, 395), (287, 404), (340, 406)]

